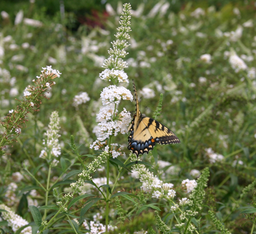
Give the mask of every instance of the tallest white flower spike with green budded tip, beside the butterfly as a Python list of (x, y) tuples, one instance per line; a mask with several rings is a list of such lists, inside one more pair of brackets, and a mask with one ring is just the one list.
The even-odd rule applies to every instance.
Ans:
[(101, 92), (103, 107), (97, 114), (98, 126), (93, 130), (97, 136), (97, 141), (90, 146), (94, 150), (102, 148), (101, 142), (106, 141), (106, 139), (116, 136), (118, 133), (126, 134), (128, 131), (130, 113), (125, 108), (119, 113), (117, 108), (121, 100), (132, 101), (133, 95), (130, 90), (117, 86), (117, 84), (122, 82), (129, 83), (128, 76), (123, 71), (127, 67), (127, 62), (123, 61), (123, 58), (128, 54), (125, 48), (129, 46), (126, 40), (130, 39), (128, 34), (131, 31), (130, 15), (131, 7), (130, 4), (126, 3), (123, 5), (121, 20), (119, 21), (120, 27), (117, 28), (118, 32), (115, 35), (117, 40), (112, 42), (113, 48), (108, 50), (110, 56), (105, 59), (102, 66), (105, 67), (105, 70), (100, 73), (102, 80), (113, 82), (114, 85), (104, 88)]

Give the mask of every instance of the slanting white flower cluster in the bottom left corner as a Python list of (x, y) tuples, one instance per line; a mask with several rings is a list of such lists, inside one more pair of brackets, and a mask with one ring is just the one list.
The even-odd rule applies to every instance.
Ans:
[[(18, 231), (19, 228), (28, 225), (28, 222), (26, 219), (23, 219), (21, 216), (15, 214), (15, 212), (12, 211), (8, 206), (1, 204), (0, 209), (7, 211), (7, 212), (2, 212), (2, 218), (3, 220), (6, 220), (8, 222), (8, 226), (11, 227), (14, 232)], [(20, 233), (31, 234), (32, 229), (31, 227), (26, 227), (22, 229)]]

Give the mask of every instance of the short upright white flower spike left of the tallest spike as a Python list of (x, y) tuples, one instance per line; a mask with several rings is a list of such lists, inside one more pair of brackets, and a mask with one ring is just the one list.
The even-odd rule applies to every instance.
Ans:
[(50, 117), (50, 122), (48, 125), (48, 130), (44, 135), (46, 135), (46, 139), (43, 140), (43, 144), (45, 145), (44, 149), (41, 151), (39, 158), (44, 159), (53, 159), (53, 165), (56, 165), (59, 161), (57, 161), (53, 157), (60, 156), (60, 143), (59, 143), (59, 130), (60, 130), (60, 118), (57, 111), (53, 111)]

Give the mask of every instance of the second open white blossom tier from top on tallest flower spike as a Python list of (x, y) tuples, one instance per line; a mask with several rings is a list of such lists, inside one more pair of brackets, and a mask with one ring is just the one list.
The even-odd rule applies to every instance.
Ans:
[(102, 105), (119, 104), (121, 100), (133, 101), (133, 95), (125, 87), (109, 86), (101, 92)]

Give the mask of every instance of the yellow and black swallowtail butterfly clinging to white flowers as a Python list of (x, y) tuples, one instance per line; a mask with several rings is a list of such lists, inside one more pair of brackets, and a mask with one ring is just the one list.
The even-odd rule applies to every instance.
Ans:
[(142, 116), (139, 110), (139, 101), (137, 90), (133, 80), (133, 89), (135, 94), (135, 107), (136, 113), (134, 114), (133, 121), (131, 121), (131, 132), (128, 137), (128, 149), (133, 152), (138, 158), (140, 154), (147, 153), (152, 150), (155, 143), (158, 144), (172, 144), (180, 143), (180, 140), (168, 127), (160, 124), (158, 121)]

